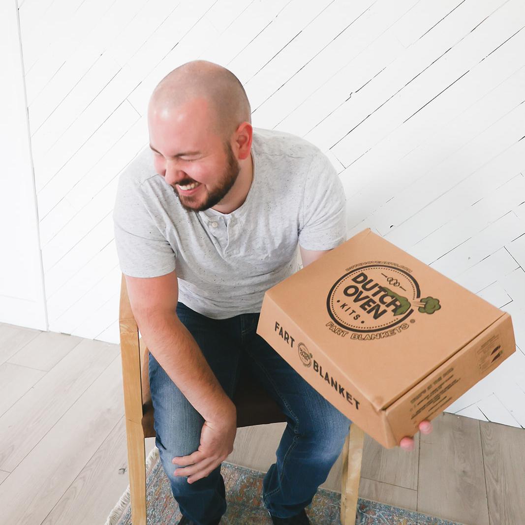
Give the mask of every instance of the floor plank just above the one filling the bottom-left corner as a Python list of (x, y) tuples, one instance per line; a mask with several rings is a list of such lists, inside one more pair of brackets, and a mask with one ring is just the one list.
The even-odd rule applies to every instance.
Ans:
[(117, 355), (116, 344), (82, 339), (9, 408), (0, 417), (0, 469), (12, 472)]

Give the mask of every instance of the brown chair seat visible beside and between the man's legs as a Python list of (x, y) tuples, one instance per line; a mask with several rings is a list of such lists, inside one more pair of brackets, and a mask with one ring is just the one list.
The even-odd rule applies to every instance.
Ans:
[[(139, 341), (142, 346), (142, 338)], [(142, 366), (142, 428), (144, 437), (155, 437), (154, 411), (149, 381), (149, 350), (141, 348)], [(279, 405), (262, 388), (251, 371), (242, 365), (237, 388), (233, 396), (237, 408), (237, 428), (268, 423), (286, 422)]]

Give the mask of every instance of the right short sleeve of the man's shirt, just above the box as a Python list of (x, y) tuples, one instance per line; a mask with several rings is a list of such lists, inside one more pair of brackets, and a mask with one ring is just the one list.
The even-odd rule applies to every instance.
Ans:
[(330, 250), (346, 240), (346, 196), (330, 159), (319, 152), (312, 159), (304, 186), (299, 245)]

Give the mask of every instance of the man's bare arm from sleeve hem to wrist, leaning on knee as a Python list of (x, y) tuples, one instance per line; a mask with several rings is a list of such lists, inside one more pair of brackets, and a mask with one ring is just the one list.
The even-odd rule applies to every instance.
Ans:
[(235, 413), (193, 335), (178, 319), (175, 271), (160, 277), (125, 276), (131, 309), (148, 349), (206, 421)]

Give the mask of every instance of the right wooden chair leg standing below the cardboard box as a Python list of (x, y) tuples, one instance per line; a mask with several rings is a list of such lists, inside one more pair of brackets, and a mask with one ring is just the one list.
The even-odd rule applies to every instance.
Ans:
[(350, 425), (343, 446), (343, 472), (341, 486), (341, 523), (355, 525), (358, 508), (361, 459), (363, 457), (364, 433), (355, 423)]

